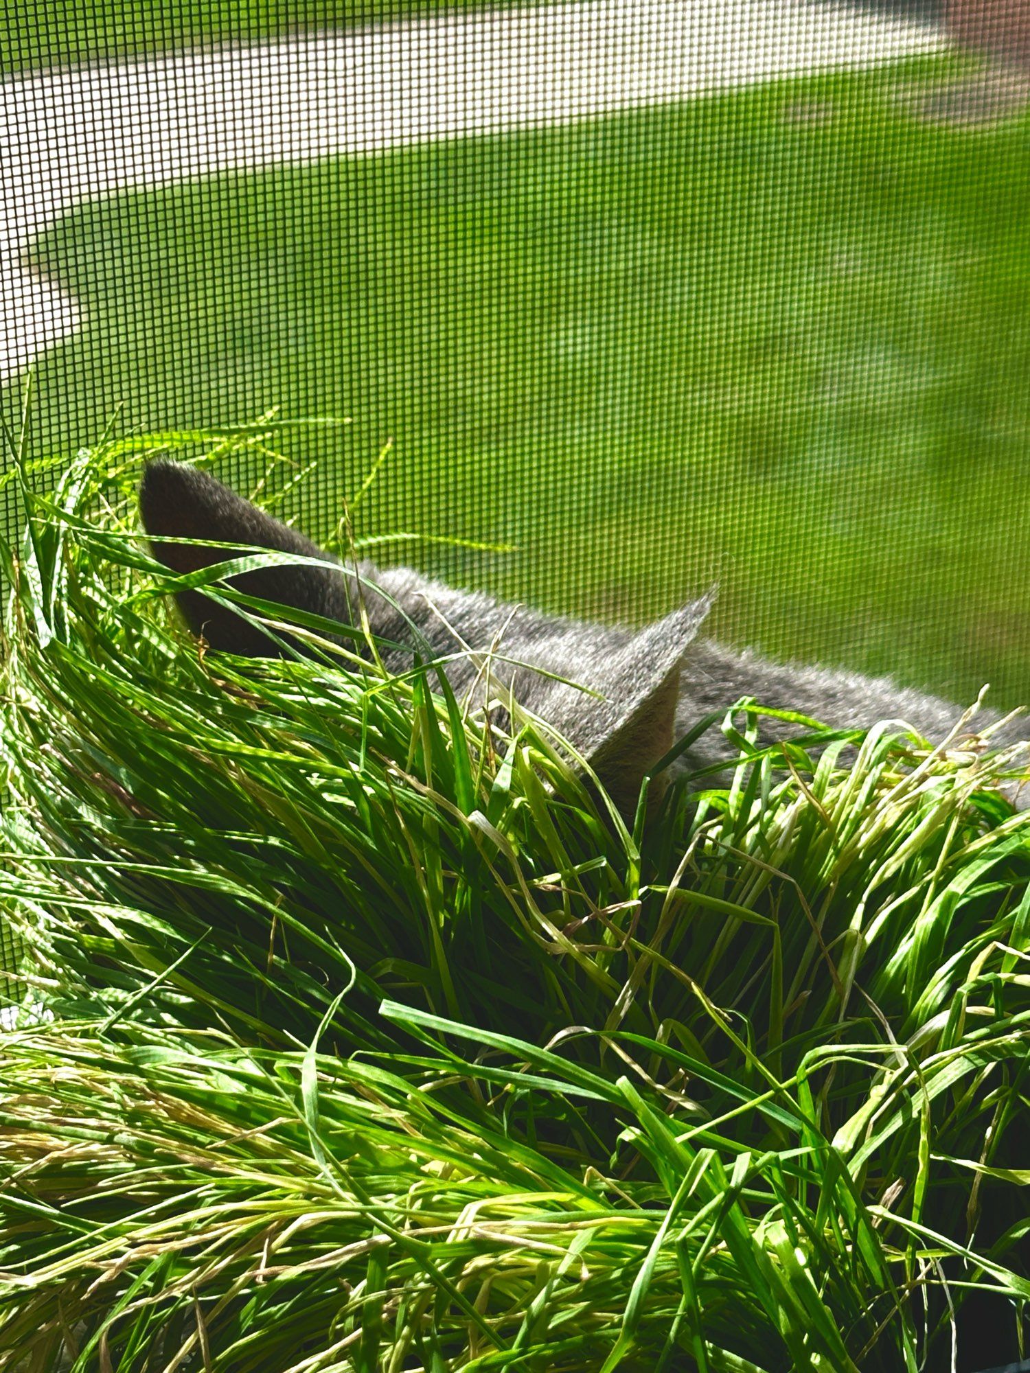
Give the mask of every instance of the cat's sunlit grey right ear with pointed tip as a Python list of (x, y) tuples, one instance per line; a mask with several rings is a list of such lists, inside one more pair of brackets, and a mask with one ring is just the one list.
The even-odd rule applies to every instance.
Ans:
[(548, 722), (575, 744), (623, 817), (633, 817), (645, 774), (674, 743), (683, 658), (710, 607), (707, 596), (689, 601), (595, 663), (586, 685), (603, 700), (560, 686), (547, 703)]

